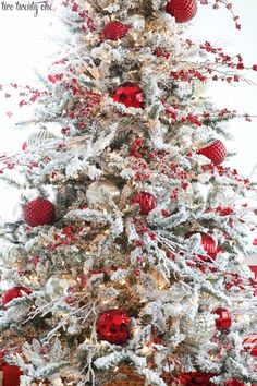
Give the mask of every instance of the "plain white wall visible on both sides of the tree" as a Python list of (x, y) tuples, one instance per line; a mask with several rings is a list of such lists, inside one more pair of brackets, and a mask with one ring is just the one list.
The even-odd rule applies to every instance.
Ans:
[[(8, 1), (5, 1), (8, 2)], [(23, 1), (28, 3), (30, 1)], [(233, 0), (235, 13), (241, 16), (242, 31), (236, 31), (230, 13), (222, 9), (212, 11), (209, 7), (199, 5), (197, 16), (187, 31), (187, 36), (194, 41), (209, 40), (215, 46), (222, 46), (231, 55), (242, 53), (246, 63), (257, 64), (257, 1)], [(9, 3), (15, 3), (9, 0)], [(0, 3), (1, 5), (1, 3)], [(51, 13), (41, 11), (34, 16), (33, 11), (3, 11), (0, 7), (0, 84), (15, 82), (38, 86), (34, 68), (46, 72), (48, 64), (59, 59), (58, 47), (51, 41), (57, 35), (57, 25)], [(52, 59), (53, 55), (53, 59)], [(249, 74), (255, 77), (256, 73)], [(242, 112), (257, 113), (257, 87), (238, 84), (236, 87), (223, 83), (213, 83), (208, 89), (215, 102), (220, 107), (236, 109)], [(14, 120), (10, 120), (5, 112), (13, 108), (11, 98), (0, 96), (0, 153), (21, 149), (27, 133), (13, 130), (14, 120), (24, 118), (19, 109)], [(233, 159), (233, 167), (245, 176), (250, 173), (255, 164), (257, 120), (252, 123), (242, 120), (230, 123), (234, 134), (232, 149), (237, 152)], [(257, 177), (255, 176), (257, 180)], [(12, 210), (17, 201), (15, 192), (1, 189), (0, 185), (0, 216), (7, 219), (12, 217)]]

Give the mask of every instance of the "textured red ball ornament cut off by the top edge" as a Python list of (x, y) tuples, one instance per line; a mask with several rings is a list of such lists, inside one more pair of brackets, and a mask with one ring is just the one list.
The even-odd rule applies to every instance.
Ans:
[(186, 23), (195, 16), (197, 3), (195, 0), (170, 0), (166, 11), (175, 17), (176, 23)]

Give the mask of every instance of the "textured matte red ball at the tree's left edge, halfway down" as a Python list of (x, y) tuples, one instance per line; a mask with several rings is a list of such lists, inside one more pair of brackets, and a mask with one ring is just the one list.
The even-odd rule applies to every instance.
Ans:
[(25, 222), (30, 227), (50, 225), (56, 219), (56, 208), (50, 201), (39, 197), (24, 205), (23, 216)]

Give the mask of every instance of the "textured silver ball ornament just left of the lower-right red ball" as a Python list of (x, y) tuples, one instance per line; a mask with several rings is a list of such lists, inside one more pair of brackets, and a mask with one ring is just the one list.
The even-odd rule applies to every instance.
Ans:
[(216, 333), (215, 315), (201, 312), (194, 319), (184, 317), (181, 321), (181, 331), (186, 336), (185, 343), (201, 346), (213, 337)]

